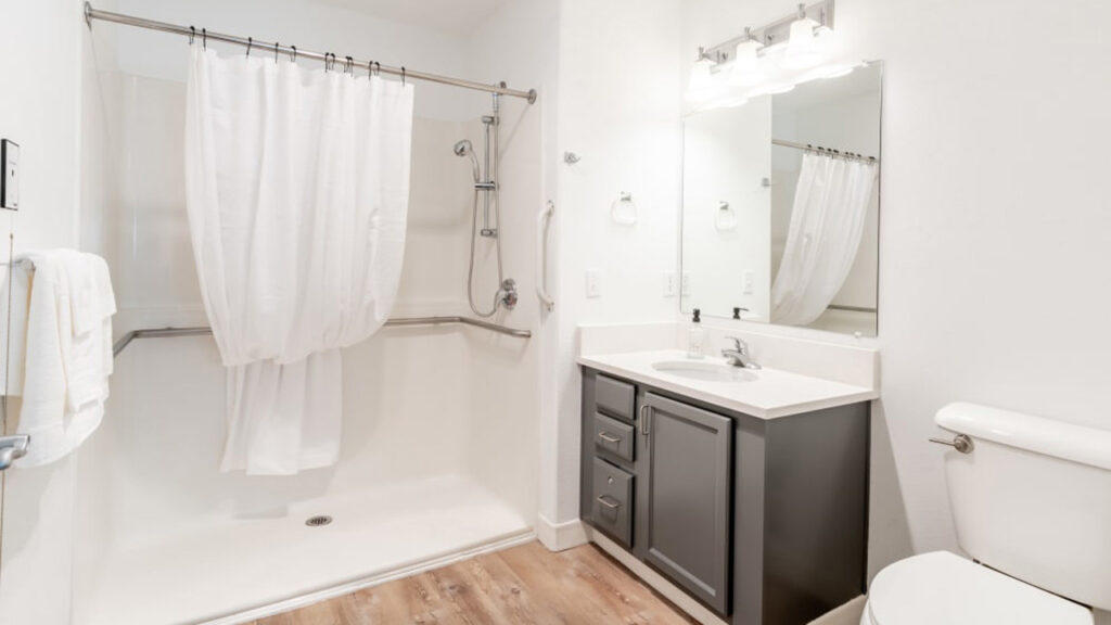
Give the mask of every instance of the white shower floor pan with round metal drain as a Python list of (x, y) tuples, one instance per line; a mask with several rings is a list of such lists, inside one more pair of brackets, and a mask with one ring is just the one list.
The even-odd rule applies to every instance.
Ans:
[[(306, 524), (319, 515), (331, 522)], [(463, 476), (324, 497), (281, 518), (230, 519), (110, 553), (74, 623), (249, 622), (531, 534), (509, 504)]]

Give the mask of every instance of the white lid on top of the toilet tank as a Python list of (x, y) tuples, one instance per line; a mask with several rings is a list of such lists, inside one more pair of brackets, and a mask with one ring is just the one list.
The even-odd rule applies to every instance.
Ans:
[(933, 420), (973, 439), (1111, 470), (1111, 430), (962, 401), (938, 410)]

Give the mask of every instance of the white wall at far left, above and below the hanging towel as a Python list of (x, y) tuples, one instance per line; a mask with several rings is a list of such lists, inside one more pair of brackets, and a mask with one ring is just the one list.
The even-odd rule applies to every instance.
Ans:
[[(82, 49), (90, 46), (80, 7), (77, 0), (0, 2), (0, 138), (20, 145), (21, 170), (21, 210), (0, 211), (0, 227), (14, 232), (17, 254), (78, 242)], [(11, 404), (17, 415), (18, 403)], [(12, 417), (8, 429), (14, 428)], [(7, 473), (0, 621), (69, 622), (74, 464)]]

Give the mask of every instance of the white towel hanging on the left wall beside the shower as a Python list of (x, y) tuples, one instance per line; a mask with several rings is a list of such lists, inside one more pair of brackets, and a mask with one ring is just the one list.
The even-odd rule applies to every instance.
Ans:
[(26, 468), (66, 456), (100, 425), (112, 374), (116, 296), (98, 256), (51, 250), (23, 258), (34, 267), (16, 428), (31, 436), (17, 465)]

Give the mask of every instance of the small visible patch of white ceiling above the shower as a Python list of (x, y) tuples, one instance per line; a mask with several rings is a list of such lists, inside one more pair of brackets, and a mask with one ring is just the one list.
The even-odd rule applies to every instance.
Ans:
[(467, 34), (510, 0), (313, 0), (379, 18)]

